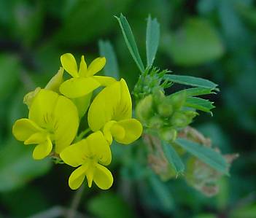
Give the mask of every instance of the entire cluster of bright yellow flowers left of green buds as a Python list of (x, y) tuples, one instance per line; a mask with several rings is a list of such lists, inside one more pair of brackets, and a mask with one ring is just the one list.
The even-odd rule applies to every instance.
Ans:
[[(28, 118), (17, 120), (12, 133), (24, 144), (36, 144), (33, 157), (58, 156), (69, 166), (78, 167), (69, 177), (76, 190), (85, 176), (88, 186), (95, 182), (103, 190), (113, 183), (110, 145), (113, 139), (131, 144), (142, 133), (141, 123), (132, 118), (131, 95), (124, 79), (95, 76), (104, 68), (105, 58), (96, 58), (89, 66), (82, 55), (79, 69), (73, 55), (61, 55), (62, 67), (44, 88), (24, 97)], [(64, 70), (71, 76), (63, 80)], [(103, 86), (91, 101), (93, 90)], [(88, 111), (88, 119), (84, 114)], [(90, 134), (77, 137), (80, 122), (88, 122)], [(88, 132), (87, 130), (85, 132)]]

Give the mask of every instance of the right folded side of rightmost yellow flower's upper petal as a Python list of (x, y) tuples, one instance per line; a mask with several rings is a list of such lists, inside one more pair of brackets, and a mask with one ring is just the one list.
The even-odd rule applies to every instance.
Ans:
[(120, 102), (117, 104), (115, 109), (115, 116), (113, 120), (125, 120), (131, 118), (132, 104), (131, 104), (131, 95), (128, 90), (128, 86), (125, 82), (125, 79), (120, 80)]

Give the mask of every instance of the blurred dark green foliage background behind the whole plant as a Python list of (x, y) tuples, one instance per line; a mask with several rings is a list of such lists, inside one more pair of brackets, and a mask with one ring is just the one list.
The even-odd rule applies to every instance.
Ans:
[[(225, 153), (239, 153), (218, 195), (207, 198), (182, 179), (143, 179), (147, 163), (133, 161), (133, 147), (113, 145), (114, 186), (82, 193), (76, 217), (256, 217), (256, 4), (252, 0), (0, 0), (0, 217), (65, 217), (74, 198), (72, 168), (34, 161), (32, 147), (12, 136), (12, 124), (26, 117), (23, 96), (44, 87), (60, 55), (99, 55), (108, 39), (120, 75), (130, 90), (139, 71), (117, 20), (122, 12), (145, 59), (148, 14), (160, 22), (155, 65), (175, 74), (211, 79), (221, 92), (214, 117), (193, 122)], [(142, 157), (142, 160), (143, 157)], [(44, 213), (42, 214), (42, 211)]]

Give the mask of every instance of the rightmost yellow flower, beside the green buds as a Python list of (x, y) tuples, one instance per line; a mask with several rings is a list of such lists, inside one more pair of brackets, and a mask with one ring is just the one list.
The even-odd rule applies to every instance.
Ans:
[(141, 123), (131, 118), (131, 96), (124, 79), (105, 87), (94, 98), (88, 111), (92, 131), (103, 131), (106, 140), (112, 138), (121, 144), (130, 144), (141, 136)]

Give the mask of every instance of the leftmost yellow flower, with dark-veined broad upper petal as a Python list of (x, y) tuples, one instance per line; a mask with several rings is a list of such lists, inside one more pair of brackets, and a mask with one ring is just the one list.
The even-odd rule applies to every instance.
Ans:
[(68, 147), (77, 134), (79, 119), (77, 108), (71, 100), (51, 90), (39, 90), (30, 106), (28, 119), (17, 120), (12, 133), (24, 144), (37, 144), (33, 157), (42, 159)]

